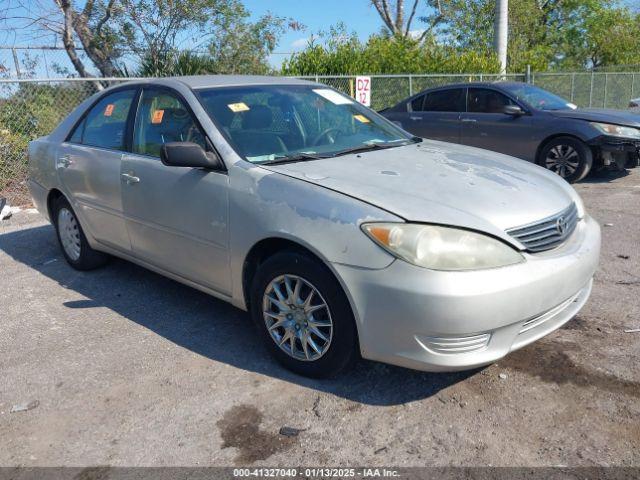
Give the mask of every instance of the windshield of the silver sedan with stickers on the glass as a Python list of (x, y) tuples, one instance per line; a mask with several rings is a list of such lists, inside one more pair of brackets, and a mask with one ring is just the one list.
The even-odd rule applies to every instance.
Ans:
[(224, 87), (199, 90), (198, 96), (238, 154), (253, 163), (325, 158), (414, 141), (326, 87)]

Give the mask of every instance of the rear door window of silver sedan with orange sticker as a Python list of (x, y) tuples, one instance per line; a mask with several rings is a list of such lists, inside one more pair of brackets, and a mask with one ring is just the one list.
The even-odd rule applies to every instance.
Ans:
[(121, 90), (102, 98), (69, 137), (69, 142), (124, 150), (127, 117), (135, 90)]

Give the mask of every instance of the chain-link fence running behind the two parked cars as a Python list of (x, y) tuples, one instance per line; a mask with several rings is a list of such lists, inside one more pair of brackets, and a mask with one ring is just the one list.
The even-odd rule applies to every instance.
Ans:
[[(354, 96), (355, 76), (303, 77)], [(526, 81), (583, 107), (627, 108), (640, 97), (640, 73), (532, 73), (525, 75), (372, 75), (371, 107), (381, 110), (426, 88), (451, 83)], [(127, 79), (130, 80), (130, 79)], [(47, 135), (80, 102), (103, 86), (125, 79), (0, 80), (0, 196), (14, 205), (29, 201), (26, 191), (26, 149), (29, 141)]]

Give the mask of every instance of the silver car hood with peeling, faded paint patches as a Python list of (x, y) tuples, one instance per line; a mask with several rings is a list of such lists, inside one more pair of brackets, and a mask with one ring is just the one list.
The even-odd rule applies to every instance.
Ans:
[(358, 198), (407, 221), (460, 226), (508, 241), (506, 229), (554, 215), (575, 195), (569, 184), (542, 167), (430, 140), (265, 168)]

